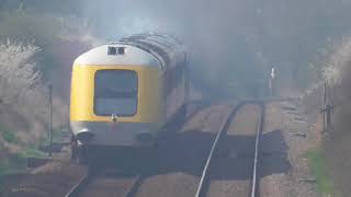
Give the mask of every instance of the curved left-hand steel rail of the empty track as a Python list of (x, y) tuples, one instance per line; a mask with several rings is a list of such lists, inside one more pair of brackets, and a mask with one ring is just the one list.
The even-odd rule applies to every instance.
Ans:
[(241, 106), (244, 106), (246, 104), (246, 102), (239, 103), (238, 105), (236, 105), (233, 111), (230, 112), (230, 114), (226, 117), (226, 121), (224, 121), (224, 124), (220, 127), (219, 132), (217, 134), (215, 141), (211, 148), (210, 151), (210, 155), (207, 158), (206, 164), (204, 166), (204, 170), (202, 172), (202, 176), (197, 186), (197, 190), (196, 190), (196, 195), (195, 197), (201, 197), (201, 196), (205, 196), (205, 188), (206, 188), (206, 184), (208, 181), (208, 170), (210, 170), (210, 165), (213, 159), (213, 154), (214, 152), (217, 150), (217, 144), (218, 141), (220, 139), (220, 137), (223, 136), (223, 134), (225, 134), (231, 123), (231, 119), (234, 118), (234, 116), (237, 114), (237, 112), (241, 108)]

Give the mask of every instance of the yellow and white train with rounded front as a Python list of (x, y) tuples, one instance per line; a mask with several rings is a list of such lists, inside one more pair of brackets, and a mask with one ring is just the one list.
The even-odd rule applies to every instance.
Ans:
[(151, 146), (185, 115), (188, 90), (186, 54), (171, 36), (139, 34), (82, 54), (71, 78), (72, 157)]

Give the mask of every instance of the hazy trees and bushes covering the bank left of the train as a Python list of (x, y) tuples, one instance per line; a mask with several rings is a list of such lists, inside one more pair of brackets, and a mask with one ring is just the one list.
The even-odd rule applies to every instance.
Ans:
[[(4, 148), (11, 152), (37, 147), (46, 138), (48, 81), (54, 84), (54, 130), (67, 124), (63, 92), (69, 89), (70, 66), (94, 40), (77, 16), (37, 12), (34, 4), (39, 1), (24, 2), (21, 9), (13, 4), (0, 9), (0, 124), (9, 127), (1, 128), (0, 140), (14, 144)], [(38, 155), (35, 151), (20, 153)]]

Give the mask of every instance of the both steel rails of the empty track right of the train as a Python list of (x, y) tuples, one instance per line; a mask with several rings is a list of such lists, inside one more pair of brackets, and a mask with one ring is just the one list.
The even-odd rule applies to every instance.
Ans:
[[(212, 162), (214, 160), (214, 155), (216, 154), (216, 151), (218, 150), (218, 147), (220, 144), (220, 139), (223, 139), (225, 132), (227, 132), (230, 123), (233, 121), (233, 119), (235, 118), (237, 112), (246, 104), (252, 104), (254, 102), (244, 102), (239, 105), (237, 105), (231, 113), (227, 116), (226, 121), (222, 125), (220, 130), (218, 131), (215, 141), (212, 146), (211, 152), (208, 154), (208, 158), (206, 160), (206, 164), (204, 166), (200, 183), (199, 183), (199, 187), (196, 189), (196, 194), (195, 197), (204, 197), (206, 196), (207, 192), (208, 192), (208, 187), (210, 187), (210, 182), (211, 182), (211, 166), (212, 166)], [(256, 104), (256, 103), (254, 103)], [(254, 140), (254, 154), (253, 154), (253, 167), (252, 167), (252, 176), (251, 176), (251, 186), (250, 186), (250, 195), (249, 197), (259, 197), (259, 157), (260, 157), (260, 139), (262, 136), (262, 131), (263, 131), (263, 125), (264, 125), (264, 104), (259, 104), (260, 105), (260, 118), (259, 118), (259, 123), (257, 126), (257, 131), (256, 131), (256, 140)], [(235, 171), (235, 169), (233, 169), (233, 171)]]

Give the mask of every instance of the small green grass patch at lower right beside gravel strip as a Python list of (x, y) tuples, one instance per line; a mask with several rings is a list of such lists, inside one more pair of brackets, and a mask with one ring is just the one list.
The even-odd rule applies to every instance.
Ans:
[(316, 178), (317, 192), (326, 195), (333, 195), (333, 183), (328, 174), (327, 160), (321, 150), (308, 151), (304, 158), (308, 160), (309, 167)]

